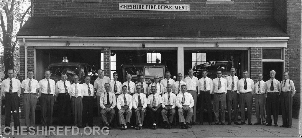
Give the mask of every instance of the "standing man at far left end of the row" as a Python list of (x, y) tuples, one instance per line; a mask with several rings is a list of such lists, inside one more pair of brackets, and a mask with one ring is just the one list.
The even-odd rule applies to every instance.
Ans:
[[(20, 80), (14, 78), (14, 70), (8, 69), (8, 78), (2, 81), (1, 86), (1, 99), (5, 102), (5, 127), (11, 127), (11, 111), (14, 117), (14, 129), (17, 130), (20, 127), (19, 116), (19, 97), (21, 94)], [(5, 129), (5, 133), (8, 133), (9, 129)]]

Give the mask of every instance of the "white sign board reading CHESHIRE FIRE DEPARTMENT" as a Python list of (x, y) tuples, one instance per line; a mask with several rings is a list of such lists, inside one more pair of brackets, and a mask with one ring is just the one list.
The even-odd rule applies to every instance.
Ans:
[(133, 11), (190, 11), (190, 5), (189, 4), (120, 3), (120, 10), (133, 10)]

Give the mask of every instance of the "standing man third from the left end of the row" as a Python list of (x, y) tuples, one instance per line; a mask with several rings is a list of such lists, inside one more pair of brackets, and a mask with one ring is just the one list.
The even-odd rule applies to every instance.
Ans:
[(49, 127), (53, 123), (53, 102), (54, 102), (54, 92), (56, 90), (55, 81), (50, 79), (50, 71), (45, 71), (45, 78), (39, 81), (41, 88), (41, 123), (45, 127)]

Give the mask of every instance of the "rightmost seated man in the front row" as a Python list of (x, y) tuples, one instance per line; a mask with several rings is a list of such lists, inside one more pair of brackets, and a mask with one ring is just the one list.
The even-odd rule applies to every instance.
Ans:
[[(186, 85), (183, 84), (181, 86), (181, 91), (181, 93), (177, 94), (176, 106), (178, 107), (179, 122), (182, 123), (182, 129), (188, 129), (188, 125), (194, 113), (192, 108), (194, 106), (194, 99), (192, 94), (186, 92)], [(184, 113), (187, 113), (186, 119)]]

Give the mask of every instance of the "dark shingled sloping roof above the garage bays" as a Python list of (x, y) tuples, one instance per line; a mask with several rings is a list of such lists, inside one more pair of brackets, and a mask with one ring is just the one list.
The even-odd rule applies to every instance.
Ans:
[(18, 36), (288, 37), (274, 19), (30, 17)]

